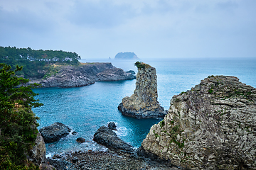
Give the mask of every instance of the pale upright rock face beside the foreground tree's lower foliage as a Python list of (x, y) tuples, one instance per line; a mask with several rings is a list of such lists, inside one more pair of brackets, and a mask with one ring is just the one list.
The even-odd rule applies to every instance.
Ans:
[(28, 159), (38, 166), (46, 162), (46, 145), (40, 133), (37, 134), (35, 145), (31, 149)]

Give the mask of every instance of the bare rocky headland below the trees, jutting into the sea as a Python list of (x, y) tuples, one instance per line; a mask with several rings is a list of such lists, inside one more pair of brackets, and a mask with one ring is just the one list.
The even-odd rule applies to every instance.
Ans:
[[(135, 74), (135, 73), (134, 73)], [(111, 63), (87, 63), (80, 67), (63, 66), (55, 75), (31, 81), (43, 87), (78, 87), (94, 84), (95, 81), (135, 79), (133, 72), (114, 67)]]

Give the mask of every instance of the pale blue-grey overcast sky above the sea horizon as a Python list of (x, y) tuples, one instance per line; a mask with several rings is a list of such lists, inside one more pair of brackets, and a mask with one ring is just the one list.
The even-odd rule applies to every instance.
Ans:
[(0, 46), (147, 57), (256, 57), (256, 0), (0, 0)]

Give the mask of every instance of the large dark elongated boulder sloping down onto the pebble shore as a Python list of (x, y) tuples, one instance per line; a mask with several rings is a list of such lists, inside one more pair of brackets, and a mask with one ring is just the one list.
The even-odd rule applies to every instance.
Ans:
[(117, 137), (117, 134), (110, 130), (110, 128), (107, 128), (105, 126), (100, 127), (97, 132), (95, 132), (93, 140), (101, 145), (104, 145), (105, 147), (108, 147), (110, 149), (114, 150), (122, 150), (124, 152), (133, 152), (134, 149), (131, 145), (127, 144), (127, 142), (124, 142), (119, 137)]

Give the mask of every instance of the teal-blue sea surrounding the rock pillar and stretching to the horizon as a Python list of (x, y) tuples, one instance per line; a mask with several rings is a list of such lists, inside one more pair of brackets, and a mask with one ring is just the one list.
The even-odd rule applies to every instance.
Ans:
[[(111, 62), (124, 71), (134, 70), (135, 62), (145, 62), (156, 68), (158, 101), (169, 110), (170, 100), (182, 91), (188, 91), (210, 75), (238, 77), (244, 84), (256, 87), (256, 58), (196, 58), (196, 59), (143, 59), (102, 60), (88, 59), (80, 62)], [(140, 147), (152, 125), (161, 119), (136, 119), (122, 115), (117, 106), (125, 96), (132, 96), (136, 79), (126, 81), (100, 81), (90, 86), (75, 88), (33, 89), (37, 99), (44, 105), (33, 108), (40, 119), (39, 127), (55, 122), (68, 125), (76, 135), (63, 137), (58, 142), (46, 144), (46, 156), (75, 151), (106, 150), (92, 140), (100, 126), (114, 122), (117, 136), (135, 148)], [(78, 137), (84, 143), (76, 142)]]

